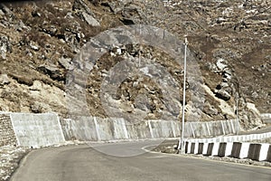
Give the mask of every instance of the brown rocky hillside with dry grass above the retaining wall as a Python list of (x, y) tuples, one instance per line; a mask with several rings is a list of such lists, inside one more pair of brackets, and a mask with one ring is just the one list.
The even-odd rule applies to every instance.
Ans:
[[(233, 119), (238, 107), (245, 129), (260, 125), (259, 112), (271, 112), (270, 2), (169, 2), (63, 0), (1, 4), (0, 110), (56, 111), (66, 117), (67, 100), (74, 100), (74, 106), (87, 109), (93, 116), (112, 116), (101, 100), (103, 82), (124, 76), (122, 71), (112, 74), (119, 62), (127, 62), (123, 65), (125, 72), (132, 62), (142, 59), (162, 65), (168, 77), (162, 79), (165, 71), (157, 71), (154, 66), (139, 68), (140, 76), (127, 77), (116, 93), (107, 93), (107, 108), (117, 112), (112, 113), (114, 116), (130, 119), (136, 119), (131, 116), (135, 113), (142, 119), (180, 119), (183, 66), (174, 63), (164, 50), (139, 42), (111, 47), (94, 64), (76, 61), (81, 47), (99, 33), (123, 25), (145, 24), (181, 40), (184, 34), (188, 37), (188, 57), (197, 61), (202, 81), (192, 81), (195, 67), (189, 65), (187, 121)], [(124, 38), (131, 37), (118, 37), (116, 42)], [(100, 47), (115, 43), (108, 43), (106, 36), (104, 40), (93, 44)], [(80, 70), (85, 66), (93, 68), (88, 81), (76, 80), (77, 89), (73, 90), (86, 92), (88, 106), (81, 108), (80, 100), (67, 95), (67, 85), (73, 79), (70, 75), (83, 76)], [(170, 84), (168, 80), (175, 82), (178, 89), (168, 90), (178, 98), (168, 96), (154, 76), (161, 78), (161, 85)]]

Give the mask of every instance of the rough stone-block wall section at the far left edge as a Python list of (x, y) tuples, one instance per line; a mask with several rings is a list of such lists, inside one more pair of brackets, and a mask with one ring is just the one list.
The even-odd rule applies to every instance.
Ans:
[(0, 114), (0, 147), (16, 144), (17, 141), (10, 116), (8, 114)]

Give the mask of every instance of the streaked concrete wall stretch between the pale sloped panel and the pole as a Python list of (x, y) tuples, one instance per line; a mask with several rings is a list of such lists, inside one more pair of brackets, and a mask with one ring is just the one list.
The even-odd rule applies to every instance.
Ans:
[(125, 119), (100, 119), (97, 117), (73, 117), (61, 120), (64, 136), (67, 140), (76, 138), (87, 141), (141, 138), (174, 138), (176, 122), (166, 120), (148, 120), (128, 123)]

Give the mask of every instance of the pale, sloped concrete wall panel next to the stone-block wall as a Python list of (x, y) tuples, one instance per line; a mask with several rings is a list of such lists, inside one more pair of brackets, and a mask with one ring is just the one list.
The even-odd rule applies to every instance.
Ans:
[(9, 113), (19, 146), (40, 148), (65, 141), (57, 114)]

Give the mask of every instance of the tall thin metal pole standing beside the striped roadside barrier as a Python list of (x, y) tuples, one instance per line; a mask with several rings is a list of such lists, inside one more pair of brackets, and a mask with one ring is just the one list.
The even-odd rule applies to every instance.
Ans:
[(183, 138), (183, 133), (184, 133), (184, 110), (185, 110), (185, 87), (186, 87), (186, 51), (187, 51), (187, 45), (188, 41), (187, 38), (185, 37), (184, 40), (184, 65), (183, 65), (183, 88), (182, 88), (182, 136), (181, 140), (179, 141), (179, 149), (181, 146), (181, 154), (184, 154), (184, 138)]

